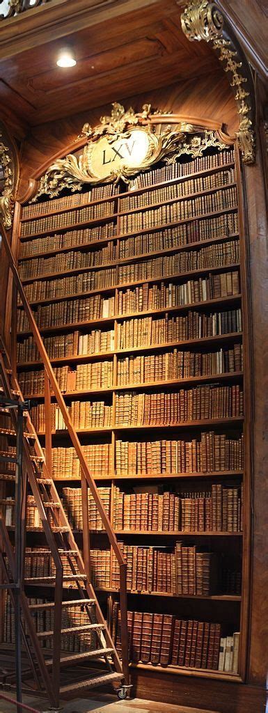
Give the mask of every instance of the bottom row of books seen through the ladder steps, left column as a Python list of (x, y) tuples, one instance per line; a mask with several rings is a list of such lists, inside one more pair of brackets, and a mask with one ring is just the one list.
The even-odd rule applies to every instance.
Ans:
[[(44, 604), (46, 599), (29, 597), (30, 605)], [(53, 608), (36, 610), (33, 612), (33, 620), (37, 632), (51, 631), (54, 625)], [(68, 629), (88, 624), (88, 614), (82, 607), (63, 607), (62, 609), (62, 628)], [(27, 625), (24, 623), (27, 632)], [(6, 605), (4, 608), (4, 642), (15, 644), (15, 622), (14, 608), (11, 602), (11, 597), (6, 595)], [(74, 632), (61, 637), (61, 651), (69, 653), (82, 653), (85, 651), (94, 650), (99, 647), (98, 637), (94, 630), (83, 632)], [(22, 647), (24, 649), (24, 646)], [(51, 637), (42, 638), (42, 648), (51, 650)]]

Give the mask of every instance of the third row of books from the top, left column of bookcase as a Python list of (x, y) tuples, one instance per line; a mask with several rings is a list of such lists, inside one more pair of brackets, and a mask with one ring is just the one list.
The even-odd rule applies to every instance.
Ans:
[(27, 257), (34, 257), (40, 252), (56, 252), (64, 250), (73, 245), (85, 245), (98, 240), (105, 240), (116, 234), (114, 222), (103, 222), (101, 225), (94, 225), (91, 228), (81, 228), (81, 230), (68, 230), (63, 234), (46, 235), (45, 237), (35, 237), (31, 240), (21, 242), (19, 250), (19, 260)]

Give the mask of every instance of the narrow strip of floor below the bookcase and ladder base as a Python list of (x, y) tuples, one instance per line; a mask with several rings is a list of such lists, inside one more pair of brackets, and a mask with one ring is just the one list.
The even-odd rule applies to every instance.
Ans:
[[(4, 692), (3, 692), (4, 693)], [(6, 693), (11, 697), (11, 693)], [(40, 712), (48, 712), (49, 705), (42, 699), (24, 696), (24, 703)], [(0, 713), (16, 713), (16, 706), (0, 699)], [(49, 712), (48, 712), (49, 713)], [(212, 713), (200, 708), (185, 708), (168, 703), (155, 703), (135, 698), (130, 701), (118, 701), (113, 696), (96, 694), (92, 699), (81, 698), (76, 701), (62, 702), (61, 713)], [(217, 713), (217, 711), (213, 712)]]

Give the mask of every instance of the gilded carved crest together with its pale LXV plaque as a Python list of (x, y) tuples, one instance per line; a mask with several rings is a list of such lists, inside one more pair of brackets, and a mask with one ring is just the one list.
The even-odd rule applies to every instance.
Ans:
[[(166, 116), (163, 114), (163, 123), (159, 125), (154, 122), (155, 115), (150, 113), (148, 104), (143, 106), (140, 113), (135, 113), (131, 107), (125, 111), (118, 103), (113, 103), (112, 106), (111, 115), (101, 117), (100, 124), (95, 128), (92, 129), (88, 123), (83, 125), (82, 132), (78, 136), (78, 140), (83, 137), (87, 139), (82, 153), (69, 153), (66, 158), (59, 158), (52, 163), (46, 174), (41, 177), (38, 191), (32, 202), (41, 195), (54, 198), (65, 189), (74, 193), (81, 190), (84, 183), (96, 185), (111, 181), (118, 182), (121, 178), (128, 183), (130, 177), (140, 173), (141, 170), (147, 170), (159, 160), (175, 163), (182, 154), (197, 157), (209, 147), (219, 150), (226, 148), (227, 142), (220, 131), (205, 129), (185, 121), (168, 123), (170, 120), (168, 114)], [(135, 155), (134, 162), (131, 155), (135, 141), (143, 148), (137, 163), (135, 163)], [(120, 155), (121, 145), (128, 149), (125, 150), (125, 155)], [(113, 159), (105, 161), (103, 170), (103, 165), (98, 165), (96, 157), (101, 158), (109, 150)], [(123, 153), (122, 148), (120, 151)], [(119, 160), (118, 156), (120, 156)]]

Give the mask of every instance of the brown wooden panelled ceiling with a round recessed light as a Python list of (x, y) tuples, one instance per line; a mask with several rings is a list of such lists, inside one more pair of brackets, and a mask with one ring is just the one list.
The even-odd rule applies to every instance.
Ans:
[[(81, 6), (81, 0), (73, 5), (76, 3)], [(116, 0), (100, 5), (95, 20), (88, 24), (83, 21), (83, 27), (74, 21), (66, 26), (57, 24), (56, 28), (53, 23), (43, 24), (39, 43), (29, 25), (28, 41), (16, 43), (14, 50), (12, 23), (17, 31), (19, 22), (6, 21), (11, 37), (7, 58), (3, 49), (6, 35), (1, 29), (0, 111), (19, 138), (34, 125), (57, 121), (122, 96), (195, 79), (219, 68), (209, 45), (190, 43), (185, 38), (181, 8), (175, 0)], [(43, 9), (51, 13), (52, 6), (36, 9), (36, 18)], [(64, 8), (61, 2), (58, 6)], [(92, 10), (94, 3), (89, 1), (88, 6)], [(42, 17), (46, 19), (44, 12)], [(22, 19), (25, 37), (26, 13)], [(71, 27), (76, 31), (70, 34)], [(66, 42), (73, 46), (77, 58), (76, 67), (71, 69), (56, 66), (58, 51)]]

